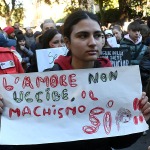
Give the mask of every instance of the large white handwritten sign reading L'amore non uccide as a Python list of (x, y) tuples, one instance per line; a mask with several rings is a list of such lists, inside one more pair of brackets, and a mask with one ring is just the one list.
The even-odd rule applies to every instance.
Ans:
[(138, 66), (0, 76), (0, 144), (112, 137), (148, 129)]

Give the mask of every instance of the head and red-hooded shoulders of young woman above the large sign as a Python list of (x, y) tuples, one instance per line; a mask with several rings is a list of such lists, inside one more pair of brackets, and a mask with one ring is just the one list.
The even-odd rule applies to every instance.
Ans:
[(102, 30), (98, 18), (89, 12), (77, 11), (64, 23), (65, 45), (70, 56), (60, 56), (55, 66), (61, 70), (111, 67), (106, 58), (99, 58), (103, 47)]

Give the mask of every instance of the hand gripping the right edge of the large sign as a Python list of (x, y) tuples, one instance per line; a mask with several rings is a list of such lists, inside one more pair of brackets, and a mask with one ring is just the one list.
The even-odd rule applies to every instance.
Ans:
[(150, 119), (150, 103), (145, 92), (142, 92), (140, 108), (145, 120), (148, 121)]

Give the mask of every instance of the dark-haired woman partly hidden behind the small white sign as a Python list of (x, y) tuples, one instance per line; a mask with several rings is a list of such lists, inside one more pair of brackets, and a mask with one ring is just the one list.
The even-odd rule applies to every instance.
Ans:
[[(60, 32), (55, 28), (51, 28), (45, 31), (42, 39), (43, 39), (42, 49), (64, 46), (62, 34), (60, 34)], [(37, 71), (38, 71), (37, 59), (35, 53), (31, 60), (31, 66), (27, 69), (27, 72), (37, 72)]]

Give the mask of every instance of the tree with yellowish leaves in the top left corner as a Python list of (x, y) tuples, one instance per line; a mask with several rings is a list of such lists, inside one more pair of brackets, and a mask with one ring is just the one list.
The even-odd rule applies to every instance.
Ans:
[(11, 0), (11, 2), (6, 2), (6, 0), (0, 1), (0, 16), (6, 19), (6, 24), (11, 25), (12, 20), (20, 22), (24, 17), (23, 4), (17, 0)]

